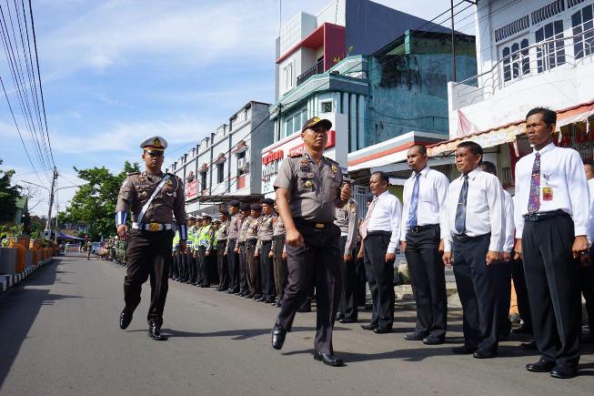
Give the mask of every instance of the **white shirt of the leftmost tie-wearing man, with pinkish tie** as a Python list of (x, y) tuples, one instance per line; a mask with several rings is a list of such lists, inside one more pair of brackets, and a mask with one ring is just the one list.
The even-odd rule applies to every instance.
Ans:
[(396, 252), (398, 238), (400, 237), (400, 216), (402, 204), (400, 200), (384, 191), (379, 194), (367, 223), (367, 232), (388, 231), (392, 233), (388, 244), (388, 253)]

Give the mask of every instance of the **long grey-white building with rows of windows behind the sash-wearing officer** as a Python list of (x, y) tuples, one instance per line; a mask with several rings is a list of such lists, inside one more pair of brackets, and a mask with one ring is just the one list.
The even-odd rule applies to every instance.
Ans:
[(248, 102), (167, 168), (185, 181), (188, 214), (216, 214), (225, 199), (260, 196), (261, 150), (273, 135), (268, 107)]

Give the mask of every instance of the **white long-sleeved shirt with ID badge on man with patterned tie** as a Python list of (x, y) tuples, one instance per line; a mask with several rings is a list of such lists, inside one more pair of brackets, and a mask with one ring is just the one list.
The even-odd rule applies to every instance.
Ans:
[[(516, 165), (516, 238), (522, 238), (524, 215), (528, 214), (530, 179), (536, 150), (521, 157)], [(573, 218), (575, 235), (588, 235), (588, 181), (579, 153), (572, 148), (556, 147), (550, 143), (540, 153), (539, 212), (563, 210)], [(552, 199), (544, 200), (542, 188), (552, 188)]]

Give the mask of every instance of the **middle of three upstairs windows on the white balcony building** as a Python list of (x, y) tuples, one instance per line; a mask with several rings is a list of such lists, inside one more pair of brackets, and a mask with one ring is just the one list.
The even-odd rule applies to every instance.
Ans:
[(563, 46), (563, 21), (555, 21), (544, 25), (536, 31), (537, 66), (539, 73), (561, 66), (565, 63), (565, 47)]

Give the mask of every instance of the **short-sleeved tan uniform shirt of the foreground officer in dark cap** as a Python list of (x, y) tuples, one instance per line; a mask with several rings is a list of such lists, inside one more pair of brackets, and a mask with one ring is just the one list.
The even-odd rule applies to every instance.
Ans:
[(336, 161), (322, 157), (319, 166), (306, 152), (287, 157), (278, 169), (275, 188), (289, 191), (288, 205), (293, 218), (330, 223), (336, 219), (342, 172)]

